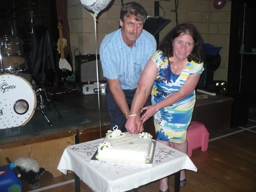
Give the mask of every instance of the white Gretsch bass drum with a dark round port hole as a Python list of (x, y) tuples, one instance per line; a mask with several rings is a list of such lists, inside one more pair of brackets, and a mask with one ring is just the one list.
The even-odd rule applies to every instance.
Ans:
[(22, 77), (0, 75), (0, 129), (25, 125), (36, 109), (36, 93)]

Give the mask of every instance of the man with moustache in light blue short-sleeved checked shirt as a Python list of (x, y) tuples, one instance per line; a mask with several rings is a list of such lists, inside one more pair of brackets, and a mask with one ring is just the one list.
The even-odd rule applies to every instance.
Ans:
[[(146, 18), (147, 11), (140, 4), (124, 4), (119, 19), (121, 29), (107, 34), (99, 50), (103, 75), (108, 81), (106, 98), (110, 126), (117, 125), (122, 132), (126, 132), (124, 125), (129, 115), (136, 116), (137, 129), (132, 133), (143, 131), (140, 112), (129, 114), (128, 105), (132, 103), (142, 70), (156, 51), (154, 36), (143, 30)], [(145, 103), (145, 106), (151, 105), (151, 100), (145, 100), (141, 107)]]

